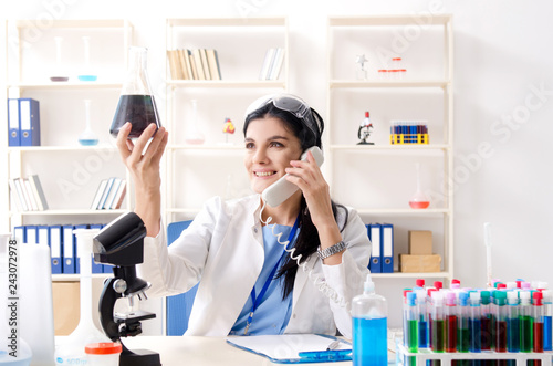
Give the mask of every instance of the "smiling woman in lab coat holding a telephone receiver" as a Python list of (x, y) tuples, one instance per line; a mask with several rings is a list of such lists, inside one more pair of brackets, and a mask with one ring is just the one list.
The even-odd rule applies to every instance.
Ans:
[[(358, 215), (331, 200), (313, 155), (299, 160), (306, 148), (322, 147), (323, 128), (321, 116), (296, 96), (255, 101), (243, 127), (254, 195), (208, 200), (169, 248), (159, 190), (167, 132), (155, 133), (152, 125), (133, 144), (131, 125), (121, 129), (117, 146), (135, 182), (135, 211), (147, 228), (139, 271), (153, 284), (148, 294), (178, 294), (199, 282), (186, 335), (335, 334), (337, 328), (352, 336), (348, 302), (363, 291), (371, 243)], [(260, 194), (285, 174), (299, 190), (278, 207), (264, 205)], [(288, 238), (294, 258), (301, 254), (301, 268), (275, 234), (281, 242)]]

